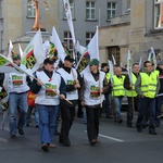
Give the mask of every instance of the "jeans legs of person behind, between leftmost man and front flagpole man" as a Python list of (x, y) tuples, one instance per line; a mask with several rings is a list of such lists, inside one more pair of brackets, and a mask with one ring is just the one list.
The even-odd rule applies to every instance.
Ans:
[(26, 123), (26, 125), (29, 125), (33, 109), (35, 110), (35, 126), (38, 126), (38, 125), (39, 125), (38, 110), (37, 110), (36, 108), (33, 108), (33, 106), (29, 106), (29, 108), (28, 108), (28, 112), (27, 112), (27, 115), (26, 115), (26, 121), (25, 121), (25, 123)]

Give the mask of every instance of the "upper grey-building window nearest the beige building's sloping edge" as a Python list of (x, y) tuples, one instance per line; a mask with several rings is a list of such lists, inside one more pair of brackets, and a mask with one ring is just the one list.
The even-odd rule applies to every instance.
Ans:
[(115, 15), (116, 15), (116, 3), (109, 2), (106, 8), (106, 20), (110, 21)]

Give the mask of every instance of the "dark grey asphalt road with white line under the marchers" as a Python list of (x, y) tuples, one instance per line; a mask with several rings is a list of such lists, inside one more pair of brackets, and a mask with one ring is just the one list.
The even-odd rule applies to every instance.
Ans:
[[(126, 118), (126, 113), (123, 113)], [(0, 115), (0, 125), (2, 115)], [(33, 121), (34, 123), (34, 121)], [(9, 123), (0, 130), (0, 163), (162, 163), (163, 126), (156, 128), (158, 135), (149, 135), (148, 129), (137, 133), (127, 128), (126, 122), (115, 123), (101, 118), (99, 139), (101, 143), (91, 147), (88, 143), (86, 125), (82, 118), (75, 118), (71, 129), (71, 147), (62, 147), (54, 138), (57, 148), (45, 153), (40, 149), (39, 129), (25, 127), (24, 136), (11, 139)]]

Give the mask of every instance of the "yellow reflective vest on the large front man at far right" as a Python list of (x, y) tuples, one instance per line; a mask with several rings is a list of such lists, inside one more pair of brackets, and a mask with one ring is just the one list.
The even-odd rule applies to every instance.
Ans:
[(158, 84), (158, 75), (156, 73), (151, 73), (148, 75), (147, 73), (140, 73), (141, 75), (141, 86), (140, 90), (147, 98), (154, 98)]

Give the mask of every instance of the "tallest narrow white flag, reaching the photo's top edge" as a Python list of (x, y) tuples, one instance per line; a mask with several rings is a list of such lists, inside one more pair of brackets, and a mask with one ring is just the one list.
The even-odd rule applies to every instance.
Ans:
[(75, 39), (75, 33), (74, 33), (74, 25), (73, 25), (73, 21), (72, 21), (72, 11), (71, 11), (70, 1), (68, 0), (63, 0), (63, 4), (64, 4), (64, 11), (65, 11), (65, 14), (66, 14), (66, 18), (67, 18), (67, 24), (70, 26), (70, 30), (71, 30), (71, 34), (72, 34), (73, 45), (75, 47), (76, 39)]

